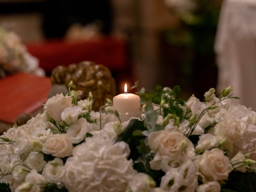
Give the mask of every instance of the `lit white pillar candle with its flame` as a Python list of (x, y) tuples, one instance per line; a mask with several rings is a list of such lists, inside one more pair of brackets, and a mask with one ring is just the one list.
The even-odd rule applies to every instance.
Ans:
[(135, 116), (140, 118), (140, 97), (138, 95), (127, 93), (127, 85), (124, 86), (124, 93), (114, 96), (113, 108), (118, 111), (122, 122)]

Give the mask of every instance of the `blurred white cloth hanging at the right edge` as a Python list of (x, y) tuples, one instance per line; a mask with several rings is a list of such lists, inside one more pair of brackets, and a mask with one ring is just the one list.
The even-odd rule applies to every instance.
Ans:
[(217, 91), (232, 85), (236, 102), (256, 110), (256, 0), (224, 0), (215, 42)]

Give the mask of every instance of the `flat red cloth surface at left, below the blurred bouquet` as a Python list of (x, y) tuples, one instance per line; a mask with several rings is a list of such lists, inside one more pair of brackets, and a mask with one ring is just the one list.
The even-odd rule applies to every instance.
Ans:
[(14, 123), (22, 113), (30, 114), (48, 100), (48, 77), (17, 73), (0, 79), (0, 121)]

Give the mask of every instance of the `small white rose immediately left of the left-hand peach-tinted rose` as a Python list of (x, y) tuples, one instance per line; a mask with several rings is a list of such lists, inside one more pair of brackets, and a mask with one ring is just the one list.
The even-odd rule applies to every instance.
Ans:
[(13, 144), (13, 151), (15, 154), (28, 154), (34, 148), (31, 138), (19, 137)]

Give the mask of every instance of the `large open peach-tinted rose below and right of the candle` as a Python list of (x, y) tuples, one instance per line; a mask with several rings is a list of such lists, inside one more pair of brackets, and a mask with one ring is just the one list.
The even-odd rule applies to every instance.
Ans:
[(156, 156), (150, 161), (150, 168), (154, 170), (161, 169), (160, 162), (166, 156), (170, 161), (180, 156), (186, 156), (190, 159), (195, 156), (193, 143), (177, 131), (161, 130), (151, 132), (148, 137), (148, 144), (150, 149), (156, 152)]

